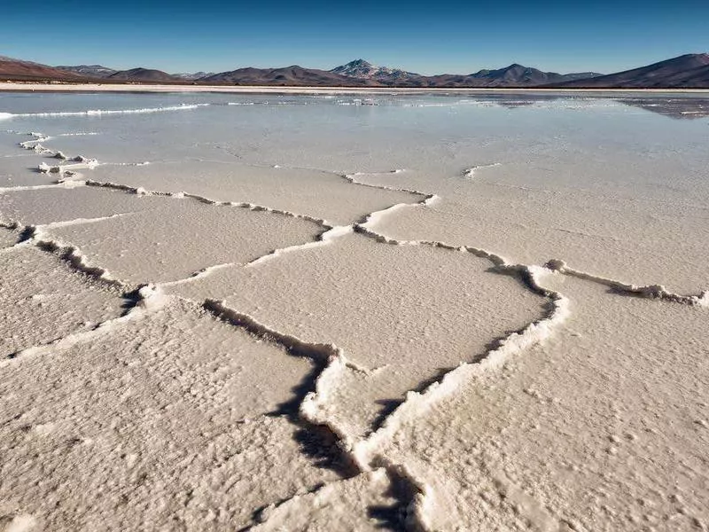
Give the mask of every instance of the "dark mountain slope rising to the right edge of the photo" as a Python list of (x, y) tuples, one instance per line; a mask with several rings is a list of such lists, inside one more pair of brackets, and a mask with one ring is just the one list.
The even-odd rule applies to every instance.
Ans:
[(690, 53), (640, 68), (590, 80), (555, 83), (555, 87), (589, 89), (709, 88), (709, 54)]

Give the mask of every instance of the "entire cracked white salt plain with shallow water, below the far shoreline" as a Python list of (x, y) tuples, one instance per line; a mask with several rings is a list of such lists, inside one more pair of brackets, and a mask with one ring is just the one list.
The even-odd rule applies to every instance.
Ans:
[(0, 528), (706, 530), (707, 117), (0, 95)]

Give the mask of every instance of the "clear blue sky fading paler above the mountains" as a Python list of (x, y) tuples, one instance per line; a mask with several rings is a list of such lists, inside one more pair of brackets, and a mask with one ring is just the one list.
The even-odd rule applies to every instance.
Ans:
[(610, 73), (709, 51), (709, 0), (6, 2), (0, 55), (171, 73), (351, 59), (421, 74), (517, 62)]

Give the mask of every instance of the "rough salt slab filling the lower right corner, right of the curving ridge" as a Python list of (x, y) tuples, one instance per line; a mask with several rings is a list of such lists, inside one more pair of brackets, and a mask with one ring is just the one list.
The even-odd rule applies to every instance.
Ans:
[(573, 301), (557, 334), (385, 451), (431, 486), (430, 527), (705, 528), (706, 309), (547, 284)]

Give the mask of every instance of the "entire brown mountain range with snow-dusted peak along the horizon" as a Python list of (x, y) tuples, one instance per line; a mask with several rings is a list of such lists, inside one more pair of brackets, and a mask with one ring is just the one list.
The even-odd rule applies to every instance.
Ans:
[(150, 68), (115, 70), (102, 65), (46, 66), (0, 56), (0, 79), (55, 82), (160, 82), (271, 86), (677, 89), (709, 88), (709, 54), (686, 54), (616, 74), (581, 72), (557, 74), (516, 63), (472, 74), (423, 75), (355, 59), (331, 70), (302, 66), (245, 67), (219, 74), (168, 74)]

